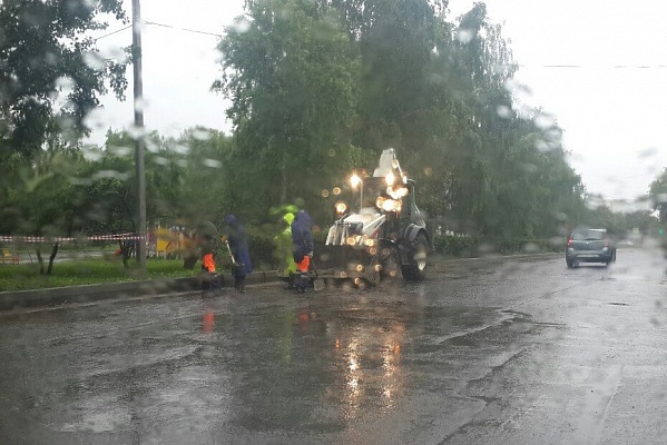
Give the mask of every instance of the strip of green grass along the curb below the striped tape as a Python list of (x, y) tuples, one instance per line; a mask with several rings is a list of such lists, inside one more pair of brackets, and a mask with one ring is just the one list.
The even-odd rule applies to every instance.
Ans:
[[(46, 255), (45, 268), (48, 266)], [(43, 289), (62, 286), (79, 286), (100, 283), (133, 281), (137, 279), (192, 277), (199, 273), (199, 265), (194, 270), (183, 268), (183, 259), (146, 260), (147, 277), (138, 274), (136, 260), (124, 268), (118, 258), (86, 258), (58, 261), (53, 264), (50, 276), (39, 274), (37, 263), (0, 264), (0, 291)]]

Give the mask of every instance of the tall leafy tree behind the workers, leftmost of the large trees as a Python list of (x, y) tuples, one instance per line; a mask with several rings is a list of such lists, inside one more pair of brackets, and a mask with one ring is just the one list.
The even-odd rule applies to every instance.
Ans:
[(233, 192), (265, 215), (295, 198), (313, 202), (331, 184), (322, 174), (347, 164), (359, 63), (335, 18), (312, 1), (252, 1), (247, 16), (219, 43), (214, 88), (233, 100)]

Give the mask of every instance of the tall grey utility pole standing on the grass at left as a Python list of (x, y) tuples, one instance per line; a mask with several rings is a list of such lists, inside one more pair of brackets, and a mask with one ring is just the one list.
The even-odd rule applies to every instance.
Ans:
[(141, 6), (133, 0), (133, 67), (135, 83), (135, 167), (137, 177), (137, 263), (146, 273), (146, 170), (144, 164), (144, 85), (141, 82)]

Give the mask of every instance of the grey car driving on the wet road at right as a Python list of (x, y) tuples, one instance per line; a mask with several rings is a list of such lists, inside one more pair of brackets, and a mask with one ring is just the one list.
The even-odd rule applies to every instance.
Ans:
[(569, 268), (579, 263), (616, 261), (616, 245), (606, 229), (579, 228), (568, 238), (565, 260)]

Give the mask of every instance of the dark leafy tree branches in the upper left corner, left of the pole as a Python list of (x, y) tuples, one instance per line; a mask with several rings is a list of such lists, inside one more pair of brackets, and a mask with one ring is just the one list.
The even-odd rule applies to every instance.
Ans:
[(84, 118), (125, 66), (104, 60), (86, 32), (100, 14), (126, 20), (120, 0), (4, 0), (0, 3), (0, 156), (32, 156), (45, 141), (87, 134)]

